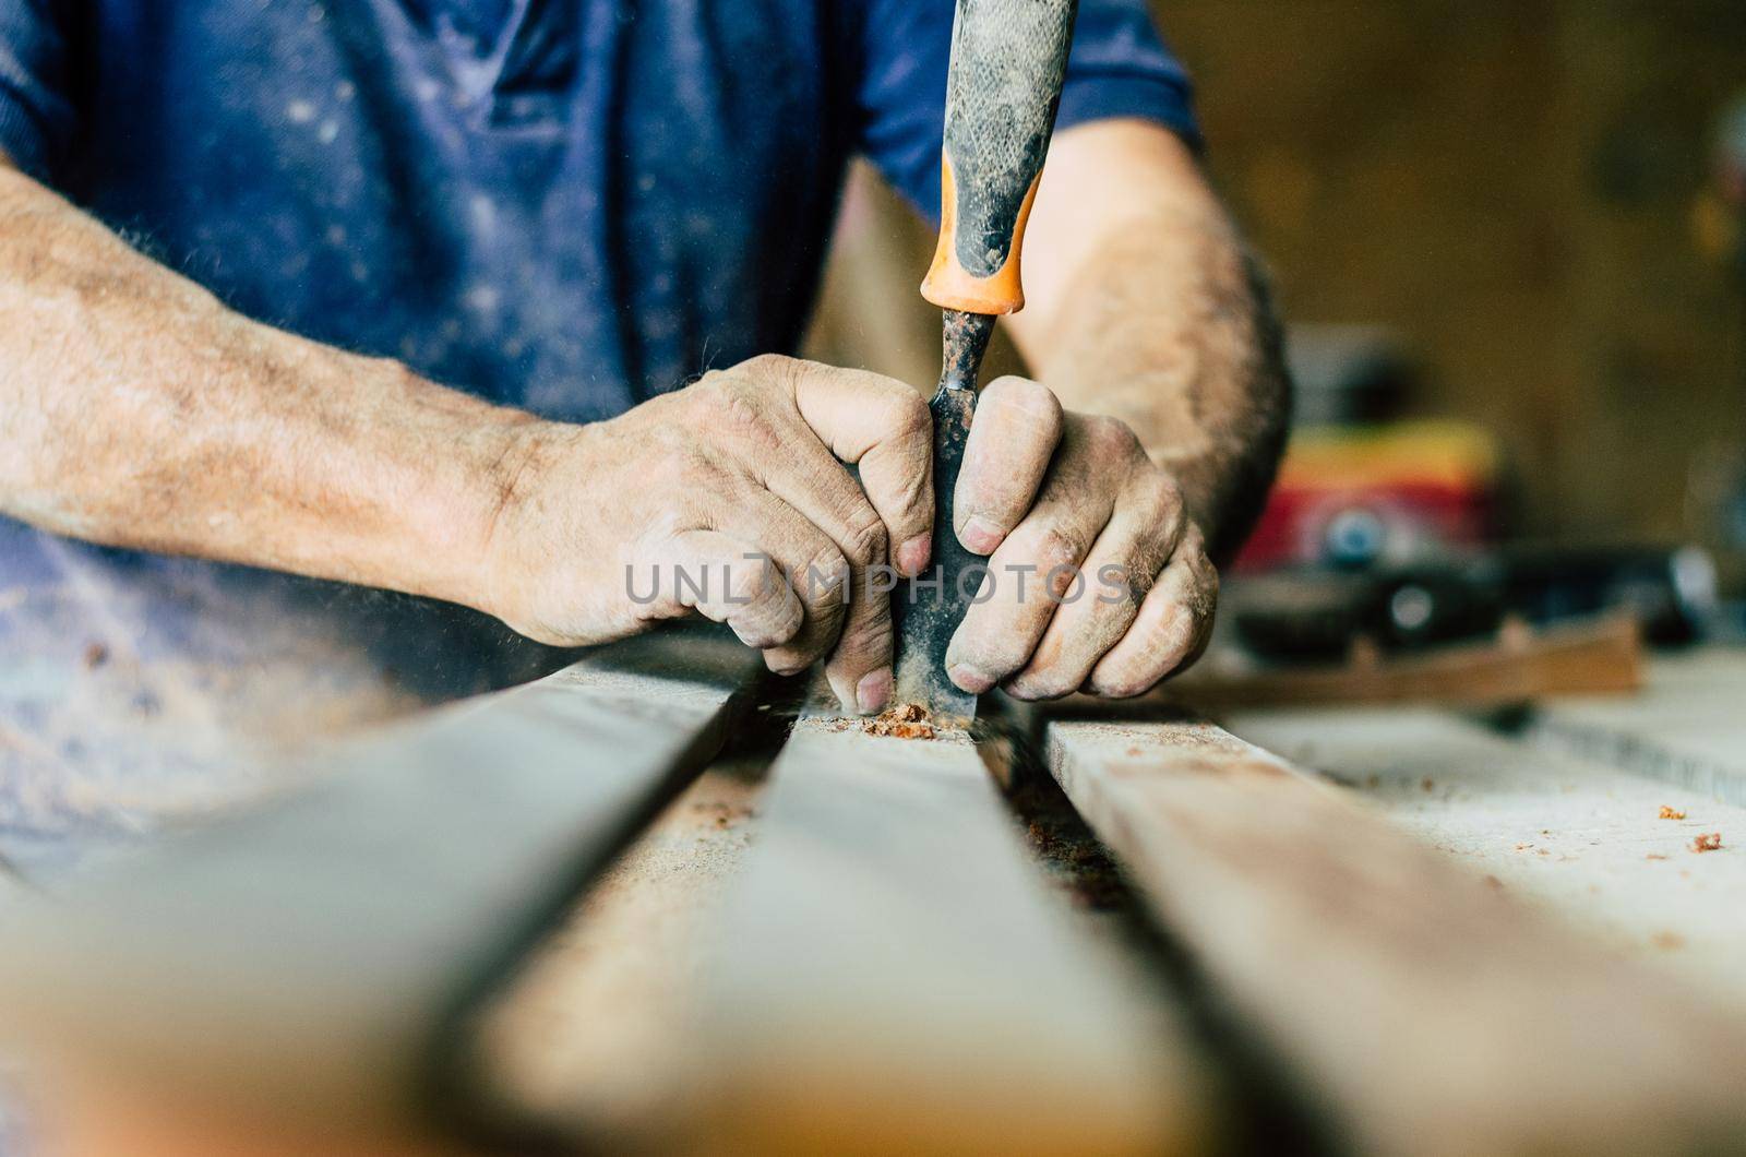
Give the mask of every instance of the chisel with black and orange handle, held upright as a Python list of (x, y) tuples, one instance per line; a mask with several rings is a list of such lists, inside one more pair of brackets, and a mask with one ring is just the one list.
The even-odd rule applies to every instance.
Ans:
[[(931, 573), (892, 598), (897, 699), (974, 717), (976, 696), (946, 676), (946, 645), (985, 565), (953, 530), (976, 376), (995, 316), (1025, 306), (1020, 248), (1067, 75), (1077, 0), (959, 0), (946, 77), (939, 246), (922, 295), (943, 309), (945, 365), (934, 393)], [(936, 582), (938, 580), (938, 582)]]

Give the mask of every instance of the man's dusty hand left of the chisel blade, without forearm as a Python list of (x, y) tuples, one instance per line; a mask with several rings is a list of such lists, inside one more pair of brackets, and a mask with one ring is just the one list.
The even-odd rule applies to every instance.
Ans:
[(910, 386), (758, 357), (611, 421), (534, 423), (512, 470), (484, 603), (522, 634), (601, 643), (697, 610), (779, 673), (829, 652), (845, 708), (885, 706), (890, 599), (868, 568), (922, 572), (934, 519)]

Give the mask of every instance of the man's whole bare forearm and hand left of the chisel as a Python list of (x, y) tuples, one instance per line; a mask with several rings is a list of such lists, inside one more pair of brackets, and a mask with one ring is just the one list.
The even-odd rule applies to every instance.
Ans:
[(924, 568), (934, 516), (927, 407), (897, 381), (761, 357), (613, 421), (541, 421), (232, 313), (5, 166), (0, 316), (0, 514), (552, 643), (695, 608), (779, 671), (829, 652), (845, 706), (890, 694), (866, 572)]

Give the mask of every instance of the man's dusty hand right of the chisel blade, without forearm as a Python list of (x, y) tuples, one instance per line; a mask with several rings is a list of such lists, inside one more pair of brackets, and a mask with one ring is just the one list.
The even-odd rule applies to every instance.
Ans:
[[(1219, 575), (1182, 495), (1116, 418), (1023, 378), (983, 390), (955, 526), (988, 578), (946, 650), (964, 690), (1137, 696), (1206, 647)], [(986, 598), (985, 598), (986, 596)]]

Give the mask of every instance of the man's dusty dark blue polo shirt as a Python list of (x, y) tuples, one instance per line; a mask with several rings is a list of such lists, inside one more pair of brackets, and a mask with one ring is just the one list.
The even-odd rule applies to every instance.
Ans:
[[(936, 211), (952, 14), (0, 0), (0, 149), (253, 318), (594, 419), (794, 348), (852, 154)], [(1194, 138), (1145, 2), (1081, 0), (1060, 124), (1114, 115)], [(0, 517), (0, 855), (555, 661), (459, 608)]]

